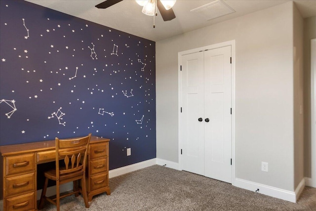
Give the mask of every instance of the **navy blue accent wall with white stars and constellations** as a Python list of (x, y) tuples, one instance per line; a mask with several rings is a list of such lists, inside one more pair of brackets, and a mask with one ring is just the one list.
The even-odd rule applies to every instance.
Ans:
[(0, 145), (91, 132), (110, 169), (156, 158), (155, 66), (153, 41), (0, 0)]

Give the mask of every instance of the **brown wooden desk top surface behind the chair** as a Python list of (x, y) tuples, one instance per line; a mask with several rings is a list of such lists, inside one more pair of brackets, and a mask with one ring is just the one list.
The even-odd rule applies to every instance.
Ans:
[[(97, 136), (91, 136), (90, 138), (90, 144), (105, 142), (105, 141), (110, 141), (110, 139), (101, 138)], [(33, 142), (33, 143), (0, 146), (0, 154), (2, 156), (8, 156), (8, 155), (14, 155), (16, 153), (21, 154), (21, 153), (47, 151), (47, 150), (54, 150), (54, 149), (55, 149), (55, 140), (49, 140), (49, 141), (39, 141), (39, 142)]]

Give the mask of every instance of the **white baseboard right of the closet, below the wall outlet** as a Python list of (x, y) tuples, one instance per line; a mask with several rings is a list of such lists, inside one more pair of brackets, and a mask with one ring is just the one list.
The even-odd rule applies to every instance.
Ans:
[(260, 184), (256, 182), (251, 182), (251, 181), (239, 179), (239, 178), (235, 179), (235, 181), (233, 182), (233, 185), (239, 188), (250, 190), (250, 191), (256, 191), (257, 189), (259, 189), (258, 193), (296, 203), (296, 194), (294, 191), (283, 190), (280, 188), (276, 188), (276, 187), (272, 187), (272, 186), (268, 186), (268, 185), (264, 185), (264, 184)]

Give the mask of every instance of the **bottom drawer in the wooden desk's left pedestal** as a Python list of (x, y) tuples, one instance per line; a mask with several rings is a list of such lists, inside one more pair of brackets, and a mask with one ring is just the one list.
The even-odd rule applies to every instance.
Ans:
[(35, 210), (34, 192), (5, 200), (5, 211)]

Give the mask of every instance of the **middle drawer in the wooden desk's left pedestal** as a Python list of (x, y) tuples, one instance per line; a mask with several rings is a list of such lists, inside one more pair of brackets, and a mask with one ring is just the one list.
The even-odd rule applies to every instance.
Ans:
[(30, 190), (35, 190), (35, 173), (7, 177), (5, 179), (5, 195), (12, 196)]

